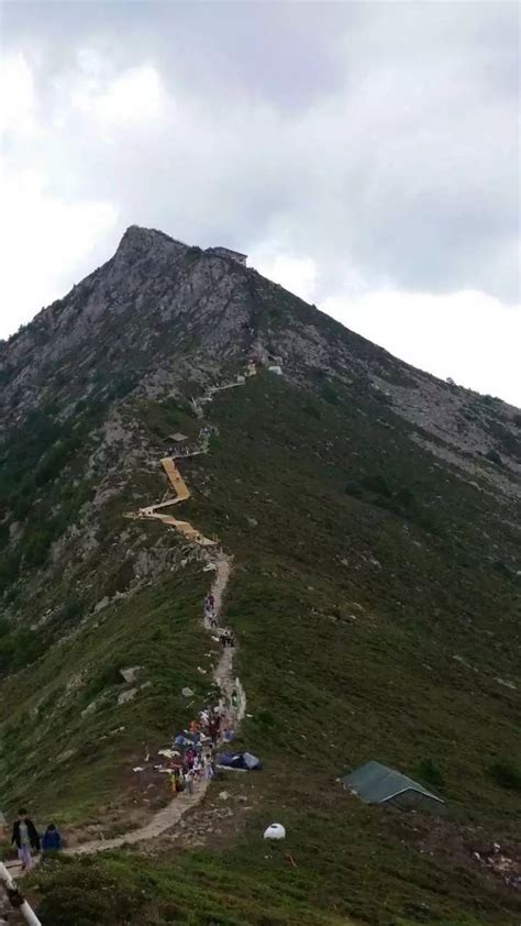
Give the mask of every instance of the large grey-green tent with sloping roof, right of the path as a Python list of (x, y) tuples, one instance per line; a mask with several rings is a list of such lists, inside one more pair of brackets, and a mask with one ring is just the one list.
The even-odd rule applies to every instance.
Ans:
[(345, 791), (356, 794), (366, 804), (390, 804), (402, 811), (431, 811), (435, 814), (445, 806), (441, 797), (423, 785), (379, 762), (366, 762), (341, 781)]

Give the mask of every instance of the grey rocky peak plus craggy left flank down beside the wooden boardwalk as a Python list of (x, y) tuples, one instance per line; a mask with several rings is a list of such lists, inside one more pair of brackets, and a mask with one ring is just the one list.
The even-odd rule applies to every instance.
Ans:
[[(433, 465), (455, 467), (512, 519), (508, 506), (521, 483), (517, 409), (408, 366), (213, 249), (133, 225), (110, 261), (0, 342), (3, 572), (16, 581), (23, 573), (9, 617), (52, 627), (64, 608), (73, 615), (76, 597), (84, 616), (85, 600), (88, 614), (102, 615), (114, 598), (187, 561), (191, 553), (164, 532), (145, 541), (118, 510), (122, 497), (140, 507), (137, 483), (157, 485), (146, 403), (174, 403), (191, 416), (190, 396), (224, 370), (242, 373), (248, 357), (308, 393), (340, 383), (354, 409), (370, 392), (407, 422)], [(173, 420), (166, 433), (180, 427)], [(385, 427), (391, 439), (393, 426)], [(201, 492), (209, 497), (203, 482)], [(91, 564), (96, 583), (80, 562)], [(51, 575), (76, 583), (67, 605), (42, 598)]]

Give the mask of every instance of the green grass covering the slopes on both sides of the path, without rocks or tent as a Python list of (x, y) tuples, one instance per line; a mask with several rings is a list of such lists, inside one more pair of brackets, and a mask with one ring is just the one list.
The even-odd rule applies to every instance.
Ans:
[[(149, 422), (154, 454), (170, 423), (188, 432), (178, 408), (129, 414)], [(130, 923), (516, 922), (514, 892), (462, 861), (461, 835), (474, 828), (514, 841), (517, 794), (510, 772), (497, 769), (517, 768), (519, 698), (496, 679), (517, 679), (516, 587), (487, 559), (494, 550), (494, 560), (516, 561), (500, 503), (439, 465), (356, 382), (303, 392), (265, 374), (215, 399), (211, 421), (211, 453), (181, 465), (193, 492), (182, 514), (234, 555), (226, 620), (253, 715), (239, 745), (265, 761), (252, 784), (257, 809), (233, 845), (213, 852), (119, 852), (52, 867), (37, 879), (43, 922), (59, 924), (63, 910), (75, 924), (123, 922), (99, 906), (98, 879), (129, 899)], [(131, 501), (160, 496), (160, 478), (157, 466), (125, 484), (106, 509), (103, 537), (117, 538)], [(135, 530), (143, 549), (146, 538), (163, 542), (154, 525), (146, 537)], [(121, 569), (117, 551), (114, 560), (103, 575)], [(95, 565), (85, 564), (86, 576)], [(180, 687), (204, 696), (197, 665), (208, 650), (198, 624), (207, 585), (197, 566), (163, 573), (2, 686), (13, 718), (0, 754), (8, 808), (23, 794), (67, 823), (117, 800), (122, 763), (188, 719)], [(143, 664), (153, 686), (118, 708), (117, 672), (130, 664)], [(73, 668), (88, 682), (62, 705)], [(91, 697), (107, 702), (81, 719)], [(121, 736), (101, 740), (120, 723)], [(69, 742), (85, 761), (64, 763), (56, 787), (56, 757)], [(459, 855), (421, 851), (420, 836), (428, 841), (443, 824), (342, 792), (336, 776), (369, 759), (440, 789)], [(280, 852), (259, 838), (271, 819), (288, 828)], [(89, 899), (90, 913), (75, 910)]]

